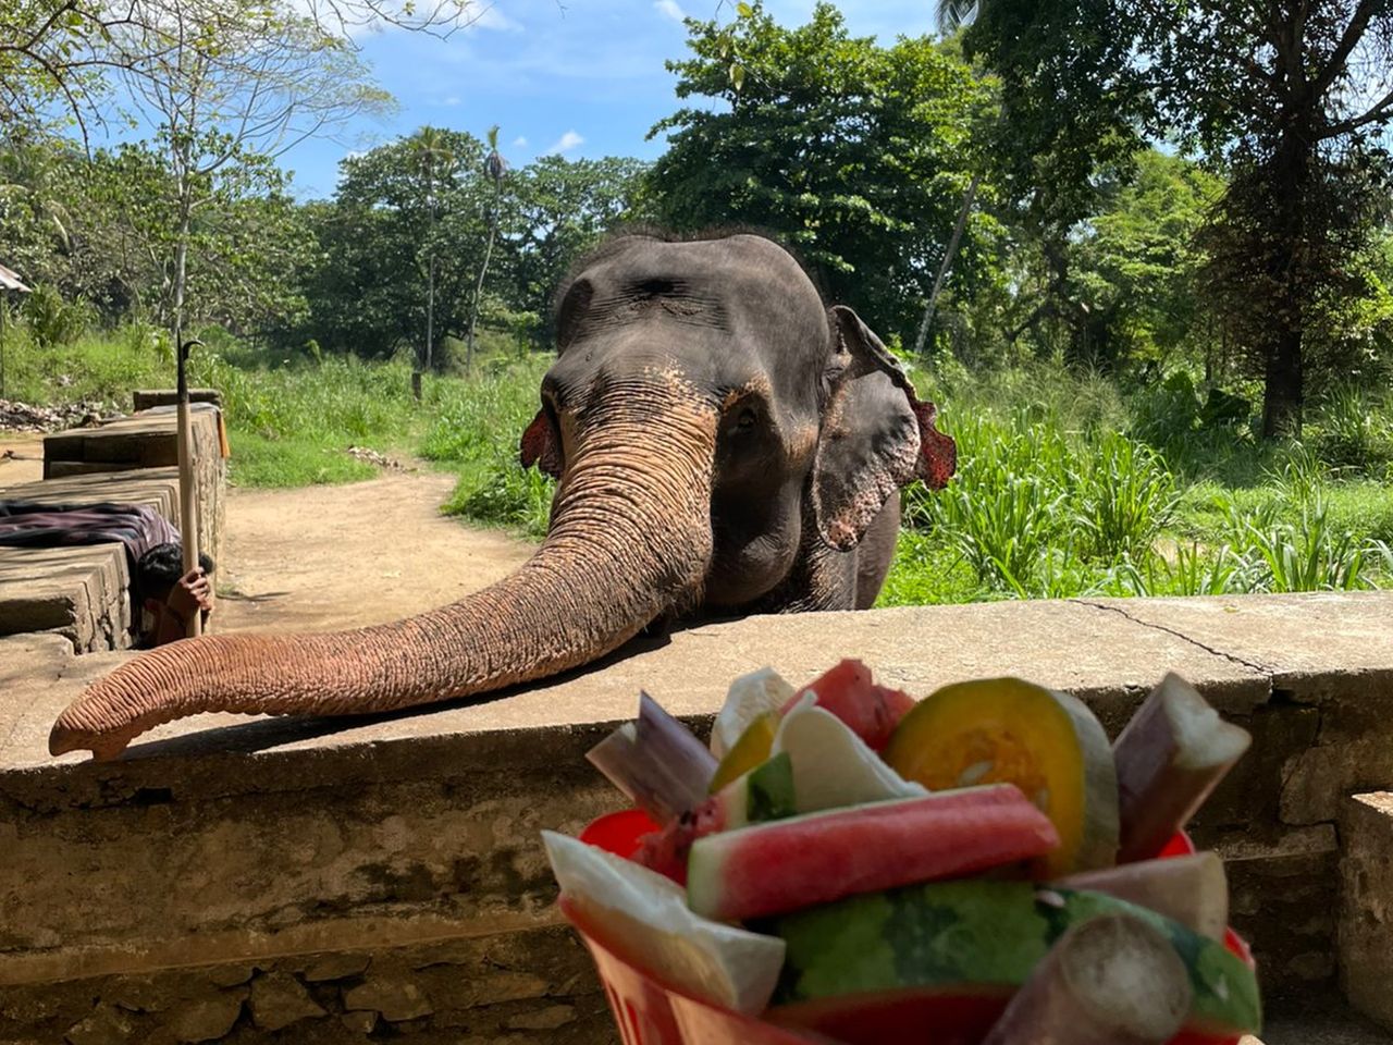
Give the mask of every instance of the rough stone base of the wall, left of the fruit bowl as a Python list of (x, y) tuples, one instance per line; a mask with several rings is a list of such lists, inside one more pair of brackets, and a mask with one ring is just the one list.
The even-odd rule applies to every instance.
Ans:
[(575, 934), (554, 927), (0, 992), (0, 1041), (592, 1045), (613, 1037), (592, 981)]

